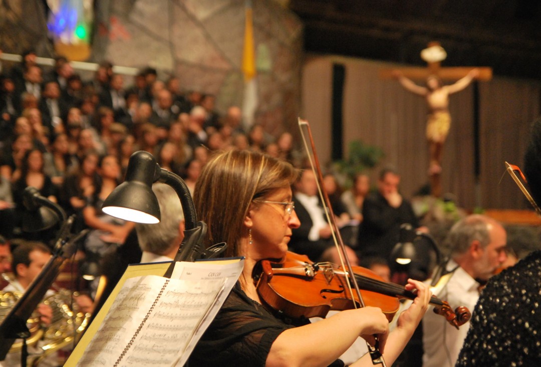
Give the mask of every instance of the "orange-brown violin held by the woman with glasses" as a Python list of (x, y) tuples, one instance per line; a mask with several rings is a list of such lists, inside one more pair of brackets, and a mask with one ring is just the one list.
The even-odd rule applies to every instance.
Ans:
[[(281, 262), (262, 260), (261, 273), (255, 275), (260, 298), (269, 307), (294, 318), (324, 318), (330, 310), (349, 310), (359, 307), (357, 294), (350, 292), (346, 277), (348, 272), (331, 263), (313, 263), (306, 255), (288, 252)], [(366, 306), (379, 307), (389, 322), (399, 310), (399, 298), (414, 299), (415, 293), (394, 283), (387, 283), (380, 276), (361, 266), (352, 266), (355, 281), (361, 290)], [(456, 327), (471, 318), (464, 307), (452, 310), (450, 305), (432, 296), (434, 312), (444, 316)]]

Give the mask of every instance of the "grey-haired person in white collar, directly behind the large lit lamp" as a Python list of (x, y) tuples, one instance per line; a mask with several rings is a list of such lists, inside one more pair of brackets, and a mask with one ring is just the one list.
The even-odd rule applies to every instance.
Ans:
[(161, 220), (156, 224), (135, 225), (143, 251), (141, 263), (173, 260), (184, 239), (184, 215), (179, 196), (165, 183), (154, 183), (152, 191), (160, 205)]

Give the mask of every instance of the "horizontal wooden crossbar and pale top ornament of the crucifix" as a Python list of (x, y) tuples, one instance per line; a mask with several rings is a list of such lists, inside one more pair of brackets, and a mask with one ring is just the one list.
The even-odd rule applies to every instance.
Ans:
[[(427, 52), (425, 52), (427, 51)], [(421, 52), (421, 57), (423, 53), (427, 57), (423, 57), (427, 61), (427, 68), (420, 67), (405, 67), (405, 68), (392, 68), (392, 69), (380, 69), (379, 76), (382, 79), (391, 79), (394, 78), (393, 72), (395, 70), (400, 70), (401, 73), (410, 79), (413, 80), (423, 80), (425, 81), (429, 75), (437, 75), (443, 81), (457, 81), (460, 78), (466, 76), (472, 69), (478, 69), (479, 75), (476, 77), (477, 80), (489, 81), (492, 79), (492, 69), (486, 67), (441, 67), (441, 61), (445, 59), (445, 54), (441, 54), (443, 48), (439, 42), (429, 42), (428, 47)], [(432, 53), (432, 55), (430, 55)], [(437, 55), (437, 54), (440, 55)], [(443, 51), (445, 53), (445, 51)], [(431, 61), (431, 56), (433, 56)], [(440, 57), (438, 57), (440, 56)], [(442, 58), (443, 57), (443, 58)], [(439, 61), (438, 58), (440, 59)]]

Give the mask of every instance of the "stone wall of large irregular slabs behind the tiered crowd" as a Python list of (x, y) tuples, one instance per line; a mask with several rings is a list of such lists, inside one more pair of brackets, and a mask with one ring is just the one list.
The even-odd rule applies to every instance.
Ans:
[[(39, 0), (0, 0), (0, 48), (21, 53), (24, 44), (52, 56), (39, 9)], [(185, 90), (215, 94), (221, 112), (242, 105), (245, 0), (97, 0), (95, 16), (91, 61), (150, 65), (162, 79), (179, 76)], [(272, 0), (254, 0), (253, 19), (255, 122), (276, 135), (296, 126), (299, 114), (302, 25)]]

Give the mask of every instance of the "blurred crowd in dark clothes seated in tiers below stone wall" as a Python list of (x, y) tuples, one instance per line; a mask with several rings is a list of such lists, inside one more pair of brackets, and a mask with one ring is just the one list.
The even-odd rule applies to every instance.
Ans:
[[(220, 105), (212, 90), (184, 89), (176, 75), (162, 78), (152, 68), (134, 77), (118, 75), (104, 61), (86, 78), (64, 57), (55, 58), (54, 67), (37, 65), (33, 51), (24, 54), (24, 64), (3, 66), (0, 234), (8, 240), (34, 238), (21, 233), (17, 218), (24, 188), (36, 186), (68, 215), (75, 214), (74, 231), (91, 230), (82, 241), (87, 256), (113, 251), (124, 241), (104, 259), (104, 270), (119, 261), (119, 252), (131, 256), (138, 251), (132, 246), (137, 241), (130, 242), (136, 237), (133, 224), (116, 224), (101, 212), (102, 200), (122, 180), (136, 150), (154, 154), (192, 189), (216, 150), (258, 149), (290, 162), (302, 158), (291, 133), (273, 137), (261, 125), (245, 126), (239, 107)], [(57, 229), (35, 235), (53, 241)], [(90, 286), (83, 286), (90, 293)]]

